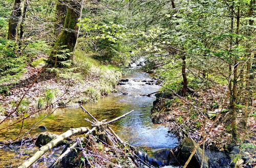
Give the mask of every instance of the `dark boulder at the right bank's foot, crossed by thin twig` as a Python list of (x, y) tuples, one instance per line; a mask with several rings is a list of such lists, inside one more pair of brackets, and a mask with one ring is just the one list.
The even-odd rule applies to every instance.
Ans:
[[(184, 139), (182, 142), (182, 147), (181, 151), (179, 153), (179, 158), (183, 161), (186, 162), (187, 159), (189, 158), (191, 152), (197, 145), (197, 143), (194, 141), (193, 138), (187, 137)], [(203, 162), (203, 168), (208, 168), (209, 167), (209, 158), (204, 154), (204, 158), (202, 157), (203, 150), (198, 147), (196, 150), (196, 153), (192, 157), (192, 159), (189, 162), (190, 166), (193, 167), (200, 167), (201, 163)]]

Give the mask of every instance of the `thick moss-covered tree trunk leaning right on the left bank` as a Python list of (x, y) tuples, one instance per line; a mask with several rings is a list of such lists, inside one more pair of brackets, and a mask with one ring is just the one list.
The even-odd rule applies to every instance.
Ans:
[(66, 55), (63, 57), (56, 57), (63, 52), (59, 50), (68, 49), (69, 52), (73, 52), (76, 46), (76, 41), (79, 33), (80, 26), (78, 22), (81, 18), (82, 4), (80, 0), (70, 0), (68, 1), (68, 10), (65, 18), (65, 23), (63, 30), (61, 31), (55, 45), (54, 50), (50, 55), (49, 63), (52, 66), (61, 67), (63, 64), (61, 62), (72, 61), (73, 54)]

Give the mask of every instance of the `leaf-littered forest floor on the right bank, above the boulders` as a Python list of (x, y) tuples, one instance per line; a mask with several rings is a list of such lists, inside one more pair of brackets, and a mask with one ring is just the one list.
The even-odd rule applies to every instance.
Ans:
[[(209, 132), (210, 127), (214, 124), (212, 131), (206, 138), (207, 147), (216, 147), (224, 150), (224, 145), (231, 143), (231, 111), (228, 109), (228, 100), (222, 99), (227, 93), (227, 88), (221, 85), (215, 85), (210, 88), (200, 88), (195, 91), (195, 95), (188, 95), (184, 99), (174, 96), (173, 99), (160, 98), (153, 107), (152, 119), (155, 123), (162, 123), (169, 127), (170, 132), (177, 134), (179, 137), (185, 134), (199, 140), (201, 135)], [(188, 103), (189, 102), (189, 103)], [(255, 104), (248, 108), (238, 108), (237, 123), (239, 141), (247, 146), (256, 145), (256, 125), (255, 125)], [(193, 104), (193, 105), (191, 105)], [(197, 109), (195, 109), (195, 107)], [(242, 127), (244, 113), (251, 111), (248, 118), (248, 128)], [(218, 120), (215, 122), (215, 115), (220, 113)], [(205, 117), (202, 116), (204, 114)], [(210, 117), (214, 115), (213, 117)]]

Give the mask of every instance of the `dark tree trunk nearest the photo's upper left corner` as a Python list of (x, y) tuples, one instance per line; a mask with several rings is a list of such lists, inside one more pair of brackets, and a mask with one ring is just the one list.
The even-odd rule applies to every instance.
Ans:
[(8, 28), (8, 40), (17, 41), (18, 35), (18, 24), (20, 22), (20, 18), (22, 16), (22, 1), (15, 0), (13, 11), (9, 20), (9, 28)]

